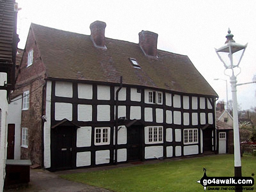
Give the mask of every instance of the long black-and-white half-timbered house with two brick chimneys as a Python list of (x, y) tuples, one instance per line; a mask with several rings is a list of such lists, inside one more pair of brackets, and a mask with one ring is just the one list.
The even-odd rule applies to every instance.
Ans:
[(21, 158), (51, 171), (216, 150), (216, 92), (185, 55), (31, 24), (17, 76)]

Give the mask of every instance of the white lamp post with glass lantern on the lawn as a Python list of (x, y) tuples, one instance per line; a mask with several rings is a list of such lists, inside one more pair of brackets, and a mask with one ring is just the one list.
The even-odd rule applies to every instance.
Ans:
[[(232, 74), (225, 75), (230, 77), (232, 101), (233, 101), (233, 131), (234, 131), (234, 164), (235, 164), (235, 177), (242, 176), (241, 156), (240, 156), (240, 141), (239, 141), (239, 125), (238, 125), (238, 113), (237, 113), (237, 97), (236, 97), (236, 77), (240, 74), (241, 69), (239, 67), (242, 56), (246, 50), (246, 45), (241, 45), (233, 40), (234, 35), (231, 34), (230, 29), (226, 35), (225, 45), (219, 49), (215, 49), (219, 59), (222, 61), (226, 70), (231, 70)], [(239, 68), (239, 73), (235, 74), (234, 69)], [(236, 192), (242, 192), (240, 189), (236, 189)]]

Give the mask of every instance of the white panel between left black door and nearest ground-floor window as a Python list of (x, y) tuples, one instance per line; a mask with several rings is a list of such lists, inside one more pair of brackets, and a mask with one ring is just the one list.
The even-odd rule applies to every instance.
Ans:
[(92, 143), (92, 127), (77, 129), (76, 147), (90, 147)]

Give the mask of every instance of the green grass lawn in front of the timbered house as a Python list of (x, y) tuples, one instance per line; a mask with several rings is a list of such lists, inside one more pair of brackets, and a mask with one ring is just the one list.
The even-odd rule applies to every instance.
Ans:
[[(207, 176), (234, 176), (233, 155), (211, 155), (61, 177), (115, 192), (204, 192), (202, 185), (196, 182), (203, 176), (204, 167)], [(242, 176), (252, 176), (252, 173), (256, 174), (256, 157), (246, 155), (242, 157)], [(256, 176), (253, 178), (256, 180)]]

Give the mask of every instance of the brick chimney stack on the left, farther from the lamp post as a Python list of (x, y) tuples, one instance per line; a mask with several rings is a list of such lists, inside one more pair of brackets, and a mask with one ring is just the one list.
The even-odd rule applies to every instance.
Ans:
[(90, 24), (92, 42), (96, 47), (106, 48), (105, 46), (106, 23), (96, 20)]

